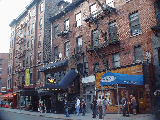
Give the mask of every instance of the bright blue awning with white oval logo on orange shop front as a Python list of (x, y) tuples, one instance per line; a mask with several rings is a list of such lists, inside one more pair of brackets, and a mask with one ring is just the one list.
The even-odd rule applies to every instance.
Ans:
[(143, 75), (128, 75), (112, 72), (105, 73), (101, 78), (100, 85), (105, 86), (113, 84), (143, 85)]

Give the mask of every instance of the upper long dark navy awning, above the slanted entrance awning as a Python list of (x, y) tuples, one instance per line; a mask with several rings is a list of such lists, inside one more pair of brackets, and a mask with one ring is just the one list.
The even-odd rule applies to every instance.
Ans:
[(59, 62), (56, 62), (56, 63), (52, 63), (50, 65), (47, 65), (45, 67), (42, 67), (40, 69), (40, 71), (46, 71), (46, 70), (49, 70), (49, 69), (52, 69), (52, 68), (57, 68), (57, 67), (60, 67), (60, 66), (63, 66), (63, 65), (68, 65), (68, 59), (65, 59), (65, 60), (61, 60)]

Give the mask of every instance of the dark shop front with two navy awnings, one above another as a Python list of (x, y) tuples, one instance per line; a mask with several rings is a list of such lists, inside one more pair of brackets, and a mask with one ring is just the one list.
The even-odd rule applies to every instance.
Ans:
[(74, 103), (74, 96), (80, 90), (79, 75), (74, 70), (68, 70), (68, 60), (62, 60), (41, 68), (45, 74), (45, 86), (38, 90), (39, 99), (45, 104), (47, 112), (64, 113), (64, 100)]

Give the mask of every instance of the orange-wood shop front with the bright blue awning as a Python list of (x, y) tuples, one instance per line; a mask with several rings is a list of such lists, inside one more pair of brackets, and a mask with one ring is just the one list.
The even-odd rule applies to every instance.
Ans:
[[(97, 97), (104, 96), (108, 101), (107, 112), (121, 113), (123, 95), (126, 93), (128, 102), (130, 95), (137, 101), (137, 112), (146, 112), (146, 89), (144, 85), (142, 64), (128, 66), (112, 70), (110, 72), (97, 73), (96, 89)], [(146, 76), (146, 75), (145, 75)], [(129, 107), (130, 113), (132, 113)]]

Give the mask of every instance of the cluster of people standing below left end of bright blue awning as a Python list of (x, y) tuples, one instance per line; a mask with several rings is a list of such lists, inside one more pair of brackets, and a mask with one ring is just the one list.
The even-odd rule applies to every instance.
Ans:
[(101, 97), (99, 96), (98, 100), (96, 100), (96, 98), (93, 99), (92, 102), (93, 118), (96, 118), (96, 116), (99, 114), (99, 119), (102, 119), (102, 115), (105, 114), (106, 109), (107, 109), (107, 100), (104, 99), (104, 97), (102, 97), (101, 99)]

